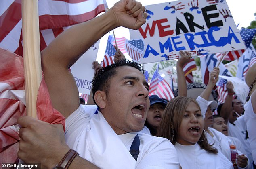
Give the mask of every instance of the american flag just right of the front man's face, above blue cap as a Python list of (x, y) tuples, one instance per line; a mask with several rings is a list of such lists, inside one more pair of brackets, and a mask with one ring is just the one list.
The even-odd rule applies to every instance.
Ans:
[(160, 98), (171, 100), (172, 98), (174, 98), (172, 89), (170, 85), (167, 83), (167, 81), (159, 75), (158, 69), (159, 65), (157, 65), (157, 69), (155, 70), (155, 73), (153, 74), (153, 77), (150, 82), (149, 96), (155, 94)]

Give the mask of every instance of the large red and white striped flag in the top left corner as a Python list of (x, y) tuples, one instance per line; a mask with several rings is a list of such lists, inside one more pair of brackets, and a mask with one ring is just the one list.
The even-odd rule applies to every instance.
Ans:
[[(105, 0), (39, 0), (41, 51), (69, 26), (105, 11)], [(0, 1), (0, 47), (23, 56), (21, 0)]]

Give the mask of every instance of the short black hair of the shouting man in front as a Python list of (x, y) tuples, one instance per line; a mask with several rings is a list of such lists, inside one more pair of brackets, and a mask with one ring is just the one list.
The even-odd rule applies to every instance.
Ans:
[(97, 103), (94, 100), (95, 92), (97, 92), (98, 90), (101, 90), (101, 91), (104, 91), (106, 94), (108, 94), (109, 87), (110, 87), (109, 86), (110, 80), (113, 76), (115, 76), (115, 74), (117, 73), (117, 69), (121, 66), (131, 66), (141, 71), (141, 73), (144, 73), (144, 70), (142, 69), (141, 64), (138, 64), (134, 61), (129, 61), (126, 59), (121, 59), (111, 65), (108, 65), (100, 69), (92, 79), (92, 98), (96, 105)]

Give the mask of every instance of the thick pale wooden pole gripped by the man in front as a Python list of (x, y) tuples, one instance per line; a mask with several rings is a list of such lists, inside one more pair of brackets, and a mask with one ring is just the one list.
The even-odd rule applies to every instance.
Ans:
[(38, 0), (22, 0), (22, 38), (27, 115), (36, 117), (36, 99), (42, 79)]

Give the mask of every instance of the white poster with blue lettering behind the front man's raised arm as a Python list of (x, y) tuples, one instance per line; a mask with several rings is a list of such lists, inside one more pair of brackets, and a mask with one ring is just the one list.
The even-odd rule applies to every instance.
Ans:
[(78, 91), (82, 94), (90, 94), (92, 78), (94, 76), (92, 62), (96, 61), (98, 49), (99, 41), (92, 45), (71, 67), (71, 73), (76, 80)]

